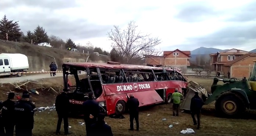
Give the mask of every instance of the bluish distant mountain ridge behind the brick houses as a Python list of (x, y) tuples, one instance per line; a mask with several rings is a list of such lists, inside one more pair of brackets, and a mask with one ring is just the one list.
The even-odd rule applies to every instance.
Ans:
[[(222, 52), (222, 51), (227, 51), (228, 49), (216, 49), (216, 48), (206, 48), (206, 47), (200, 47), (197, 49), (194, 49), (191, 52), (191, 61), (195, 61), (196, 56), (200, 55), (200, 56), (209, 56), (209, 54), (215, 54), (218, 51)], [(256, 53), (256, 49), (253, 49), (252, 51), (249, 52), (255, 52)]]

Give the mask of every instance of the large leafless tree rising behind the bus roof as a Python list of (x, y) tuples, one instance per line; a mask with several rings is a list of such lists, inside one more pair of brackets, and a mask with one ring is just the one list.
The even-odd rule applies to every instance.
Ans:
[(159, 55), (161, 52), (155, 47), (161, 43), (158, 37), (151, 37), (150, 34), (142, 34), (137, 31), (134, 21), (128, 23), (126, 30), (121, 30), (119, 26), (114, 26), (108, 32), (109, 40), (112, 40), (112, 48), (118, 52), (120, 57), (125, 58), (124, 63), (131, 63), (134, 59), (143, 59), (143, 55)]

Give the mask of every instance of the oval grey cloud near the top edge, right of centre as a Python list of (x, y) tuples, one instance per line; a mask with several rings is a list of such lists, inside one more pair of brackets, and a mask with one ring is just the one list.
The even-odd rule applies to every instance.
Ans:
[(188, 2), (177, 6), (179, 12), (174, 16), (183, 22), (200, 22), (206, 18), (219, 15), (219, 11), (208, 5), (206, 2)]

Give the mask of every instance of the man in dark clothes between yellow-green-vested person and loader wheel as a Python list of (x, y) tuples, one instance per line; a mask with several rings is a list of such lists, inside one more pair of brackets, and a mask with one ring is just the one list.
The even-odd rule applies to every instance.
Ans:
[[(198, 92), (195, 92), (194, 97), (192, 97), (191, 99), (190, 111), (191, 111), (191, 116), (192, 116), (194, 125), (197, 125), (197, 129), (200, 129), (200, 117), (201, 117), (202, 106), (203, 106), (203, 100), (198, 95)], [(197, 118), (197, 123), (195, 120), (195, 115)]]

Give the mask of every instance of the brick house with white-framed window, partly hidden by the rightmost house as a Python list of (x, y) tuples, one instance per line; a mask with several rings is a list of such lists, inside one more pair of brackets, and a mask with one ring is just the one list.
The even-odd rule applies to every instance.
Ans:
[(209, 54), (210, 67), (212, 71), (222, 71), (222, 65), (238, 59), (240, 56), (248, 54), (248, 51), (242, 51), (239, 49), (229, 49), (224, 52), (217, 52), (216, 54)]

